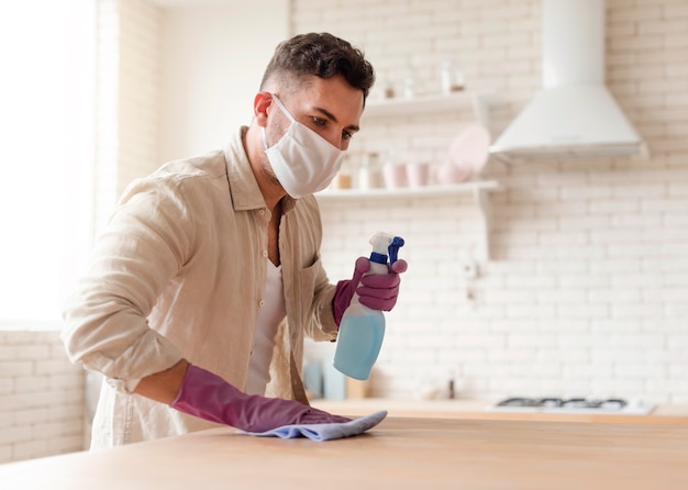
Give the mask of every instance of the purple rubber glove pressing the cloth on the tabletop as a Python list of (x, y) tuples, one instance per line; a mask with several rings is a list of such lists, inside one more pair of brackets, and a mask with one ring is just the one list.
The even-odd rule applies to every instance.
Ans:
[(169, 407), (245, 432), (265, 432), (291, 424), (349, 421), (298, 401), (246, 394), (219, 376), (193, 365), (189, 365), (179, 393)]

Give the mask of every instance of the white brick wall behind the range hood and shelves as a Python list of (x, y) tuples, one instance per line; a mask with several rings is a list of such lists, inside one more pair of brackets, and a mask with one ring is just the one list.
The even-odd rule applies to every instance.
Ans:
[[(363, 47), (378, 80), (411, 68), (434, 89), (457, 59), (468, 89), (504, 104), (492, 127), (540, 88), (540, 1), (296, 0), (296, 32), (331, 31)], [(410, 263), (388, 314), (371, 393), (426, 396), (454, 376), (459, 396), (620, 396), (688, 403), (688, 2), (608, 1), (607, 81), (647, 140), (648, 162), (504, 166), (486, 178), (493, 259), (466, 299), (462, 264), (475, 243), (469, 199), (323, 202), (323, 258), (348, 277), (378, 229), (407, 238)], [(400, 148), (441, 163), (468, 114), (369, 122), (354, 149)], [(431, 147), (423, 142), (431, 141)], [(309, 344), (312, 357), (331, 345)]]

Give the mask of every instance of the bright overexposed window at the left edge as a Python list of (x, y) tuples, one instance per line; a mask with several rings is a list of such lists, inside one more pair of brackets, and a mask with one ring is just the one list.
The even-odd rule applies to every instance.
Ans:
[(90, 248), (93, 0), (0, 3), (0, 326), (59, 325)]

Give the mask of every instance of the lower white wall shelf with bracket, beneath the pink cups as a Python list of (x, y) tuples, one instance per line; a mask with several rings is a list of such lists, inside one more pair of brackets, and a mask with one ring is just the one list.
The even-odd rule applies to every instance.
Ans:
[(406, 187), (399, 189), (326, 189), (318, 192), (315, 198), (321, 203), (328, 203), (348, 200), (423, 199), (467, 193), (473, 197), (473, 201), (480, 213), (480, 243), (477, 246), (475, 258), (486, 261), (490, 259), (490, 223), (492, 218), (488, 193), (500, 189), (496, 180), (475, 180), (450, 186)]

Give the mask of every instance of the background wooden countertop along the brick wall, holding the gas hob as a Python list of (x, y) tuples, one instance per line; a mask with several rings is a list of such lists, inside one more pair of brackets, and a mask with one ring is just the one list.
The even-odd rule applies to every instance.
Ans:
[(342, 415), (362, 416), (387, 410), (390, 416), (421, 416), (429, 419), (477, 419), (543, 422), (603, 422), (635, 424), (688, 425), (688, 407), (659, 405), (647, 415), (614, 413), (543, 413), (488, 411), (493, 401), (476, 400), (393, 400), (362, 398), (347, 400), (313, 400), (321, 410)]

